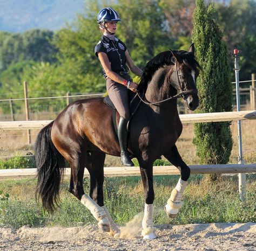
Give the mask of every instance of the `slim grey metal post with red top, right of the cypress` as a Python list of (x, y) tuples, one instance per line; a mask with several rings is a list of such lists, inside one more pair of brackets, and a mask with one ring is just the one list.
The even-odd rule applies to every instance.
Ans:
[[(237, 111), (240, 111), (240, 92), (239, 92), (239, 50), (234, 50), (234, 71), (235, 71), (235, 88), (237, 94)], [(242, 137), (241, 137), (241, 121), (238, 121), (238, 149), (239, 149), (239, 157), (238, 157), (238, 164), (244, 164), (244, 160), (242, 159)], [(246, 198), (246, 173), (238, 173), (239, 179), (239, 194), (240, 200), (245, 203)]]

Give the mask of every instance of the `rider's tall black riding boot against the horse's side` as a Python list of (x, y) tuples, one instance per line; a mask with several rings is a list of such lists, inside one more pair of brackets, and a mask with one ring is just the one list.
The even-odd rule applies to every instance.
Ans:
[(117, 130), (119, 145), (121, 149), (121, 163), (122, 165), (134, 166), (127, 152), (126, 125), (127, 125), (127, 121), (124, 119), (124, 117), (121, 116), (118, 124), (118, 130)]

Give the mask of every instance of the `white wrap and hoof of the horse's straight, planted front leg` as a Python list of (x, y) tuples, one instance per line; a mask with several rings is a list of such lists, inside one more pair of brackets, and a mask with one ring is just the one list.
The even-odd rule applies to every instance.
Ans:
[(147, 205), (145, 203), (142, 228), (143, 228), (143, 231), (142, 231), (143, 239), (157, 238), (156, 228), (153, 227), (153, 204)]

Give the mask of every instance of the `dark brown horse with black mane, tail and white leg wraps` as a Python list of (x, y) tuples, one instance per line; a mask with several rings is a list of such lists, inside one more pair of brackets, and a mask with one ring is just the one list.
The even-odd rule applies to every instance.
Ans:
[[(151, 59), (144, 68), (137, 88), (140, 104), (130, 121), (127, 142), (129, 152), (138, 159), (145, 194), (142, 236), (157, 238), (153, 226), (153, 162), (164, 156), (180, 171), (180, 178), (167, 200), (169, 217), (181, 208), (183, 192), (190, 177), (190, 168), (179, 155), (176, 141), (181, 135), (177, 98), (186, 106), (199, 106), (196, 87), (200, 65), (189, 51), (165, 51)], [(132, 93), (132, 92), (131, 92)], [(117, 124), (119, 116), (117, 115)], [(37, 165), (36, 198), (42, 199), (45, 210), (53, 212), (59, 204), (59, 188), (64, 160), (69, 162), (69, 192), (84, 204), (98, 221), (98, 226), (114, 238), (120, 229), (104, 206), (103, 182), (106, 154), (120, 156), (120, 147), (112, 122), (112, 109), (102, 97), (77, 100), (66, 107), (54, 121), (38, 134), (35, 143)], [(90, 174), (90, 194), (83, 189), (84, 168)]]

